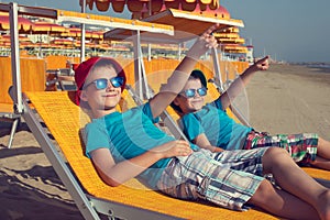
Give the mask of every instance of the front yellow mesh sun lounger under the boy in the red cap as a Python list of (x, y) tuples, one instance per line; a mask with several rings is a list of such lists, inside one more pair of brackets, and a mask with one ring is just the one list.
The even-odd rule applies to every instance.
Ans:
[(98, 219), (100, 213), (123, 219), (276, 219), (254, 209), (231, 211), (170, 198), (147, 189), (136, 179), (120, 187), (106, 185), (84, 154), (79, 131), (86, 116), (72, 97), (72, 91), (26, 92), (25, 99), (32, 102), (47, 130), (26, 101), (23, 117), (86, 219)]

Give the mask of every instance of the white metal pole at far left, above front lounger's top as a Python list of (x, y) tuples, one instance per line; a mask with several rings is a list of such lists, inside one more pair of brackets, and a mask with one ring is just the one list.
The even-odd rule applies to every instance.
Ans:
[(20, 42), (19, 42), (19, 7), (18, 3), (11, 2), (9, 4), (10, 19), (10, 40), (11, 40), (11, 72), (12, 84), (14, 86), (13, 101), (15, 113), (23, 112), (22, 105), (22, 87), (21, 87), (21, 69), (20, 69)]

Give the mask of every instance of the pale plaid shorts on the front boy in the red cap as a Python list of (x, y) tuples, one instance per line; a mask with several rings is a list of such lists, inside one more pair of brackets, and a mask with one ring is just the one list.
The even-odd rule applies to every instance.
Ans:
[(199, 150), (175, 157), (163, 172), (157, 187), (179, 199), (207, 200), (232, 210), (245, 202), (264, 180), (262, 157), (267, 147), (211, 153)]

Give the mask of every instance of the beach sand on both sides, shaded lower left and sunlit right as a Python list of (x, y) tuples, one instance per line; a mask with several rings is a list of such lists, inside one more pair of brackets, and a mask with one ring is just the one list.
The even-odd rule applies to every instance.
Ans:
[[(330, 140), (330, 73), (272, 65), (246, 87), (250, 124), (275, 133), (317, 132)], [(0, 122), (0, 219), (82, 219), (24, 122), (12, 148), (9, 123)]]

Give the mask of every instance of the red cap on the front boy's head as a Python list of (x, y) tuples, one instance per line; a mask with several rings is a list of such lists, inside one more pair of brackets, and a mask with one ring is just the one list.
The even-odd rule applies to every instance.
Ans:
[(124, 80), (123, 80), (123, 85), (121, 86), (121, 91), (123, 91), (123, 89), (125, 88), (127, 75), (125, 75), (123, 68), (121, 67), (121, 65), (117, 61), (114, 61), (113, 58), (109, 58), (109, 57), (91, 57), (91, 58), (82, 62), (75, 69), (75, 81), (77, 85), (77, 91), (76, 91), (76, 97), (75, 97), (76, 105), (79, 106), (79, 103), (80, 103), (80, 94), (84, 88), (84, 84), (85, 84), (85, 80), (86, 80), (88, 74), (92, 69), (94, 65), (96, 65), (99, 61), (103, 61), (103, 59), (109, 61), (109, 63), (113, 65), (116, 72), (118, 73), (118, 76), (123, 77)]

